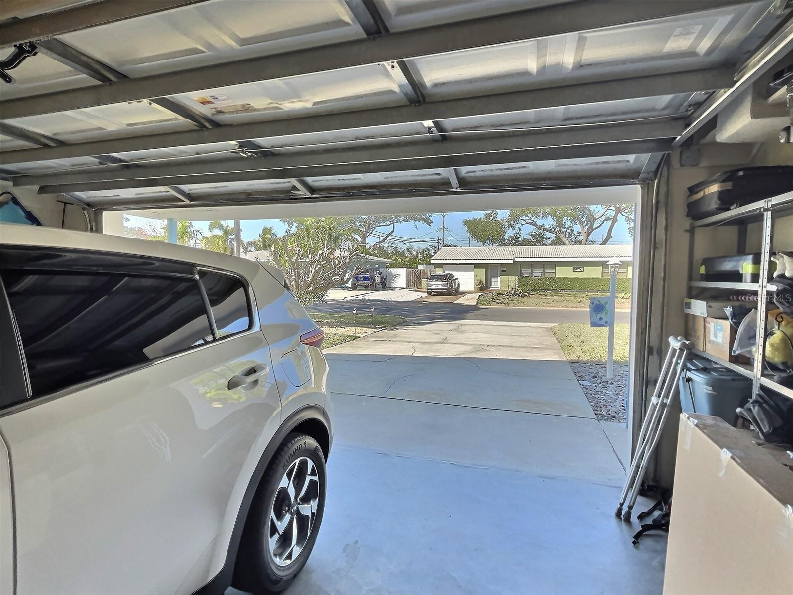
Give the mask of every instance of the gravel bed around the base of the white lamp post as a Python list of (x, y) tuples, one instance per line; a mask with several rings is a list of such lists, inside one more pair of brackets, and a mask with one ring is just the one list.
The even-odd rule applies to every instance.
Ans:
[(628, 394), (628, 366), (614, 364), (614, 377), (606, 380), (605, 363), (570, 362), (584, 396), (598, 421), (627, 420), (625, 399)]

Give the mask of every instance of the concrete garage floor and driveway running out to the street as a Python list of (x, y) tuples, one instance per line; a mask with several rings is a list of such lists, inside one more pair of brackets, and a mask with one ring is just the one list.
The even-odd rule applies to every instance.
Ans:
[(623, 466), (550, 324), (403, 325), (326, 357), (328, 501), (290, 595), (661, 593), (665, 537), (634, 547), (613, 515)]

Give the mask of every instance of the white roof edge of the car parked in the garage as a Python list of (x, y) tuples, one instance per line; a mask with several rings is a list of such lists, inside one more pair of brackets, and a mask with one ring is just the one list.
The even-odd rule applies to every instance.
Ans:
[[(70, 229), (39, 227), (36, 225), (0, 224), (0, 244), (3, 246), (71, 248), (151, 256), (233, 271), (247, 278), (253, 278), (262, 268), (262, 263), (253, 260), (202, 250), (201, 248), (189, 248), (179, 244), (167, 244), (155, 240), (139, 240), (137, 238), (112, 236), (104, 233), (76, 232)], [(273, 267), (266, 266), (264, 268), (269, 272), (271, 272), (270, 269), (273, 269)], [(278, 270), (275, 269), (275, 271)], [(278, 272), (280, 273), (280, 271)], [(278, 278), (278, 275), (274, 274), (274, 277)]]

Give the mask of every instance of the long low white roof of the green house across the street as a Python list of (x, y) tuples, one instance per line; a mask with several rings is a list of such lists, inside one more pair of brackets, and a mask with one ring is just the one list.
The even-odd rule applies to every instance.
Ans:
[(479, 246), (475, 248), (441, 248), (432, 263), (518, 263), (537, 260), (587, 261), (612, 258), (632, 260), (633, 244), (604, 246)]

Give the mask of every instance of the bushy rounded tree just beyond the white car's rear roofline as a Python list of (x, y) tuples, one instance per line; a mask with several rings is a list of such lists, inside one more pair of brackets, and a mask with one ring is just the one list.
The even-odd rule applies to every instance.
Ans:
[(270, 258), (303, 304), (319, 301), (331, 287), (347, 282), (359, 254), (353, 229), (335, 217), (288, 221), (270, 246)]

